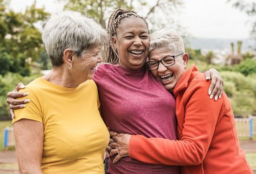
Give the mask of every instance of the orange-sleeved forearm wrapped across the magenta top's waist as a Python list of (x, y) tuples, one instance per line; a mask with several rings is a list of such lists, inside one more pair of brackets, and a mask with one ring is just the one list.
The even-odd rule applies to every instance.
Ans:
[(202, 163), (206, 151), (191, 141), (132, 135), (128, 153), (129, 157), (146, 163), (179, 166)]

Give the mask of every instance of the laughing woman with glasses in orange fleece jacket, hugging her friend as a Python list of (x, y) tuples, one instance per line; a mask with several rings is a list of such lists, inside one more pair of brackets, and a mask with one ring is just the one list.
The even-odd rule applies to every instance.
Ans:
[(118, 154), (152, 164), (180, 165), (182, 174), (252, 174), (239, 147), (235, 119), (227, 95), (210, 100), (203, 91), (210, 82), (195, 65), (188, 70), (189, 55), (182, 38), (169, 29), (150, 35), (149, 70), (176, 100), (178, 140), (118, 134), (110, 155)]

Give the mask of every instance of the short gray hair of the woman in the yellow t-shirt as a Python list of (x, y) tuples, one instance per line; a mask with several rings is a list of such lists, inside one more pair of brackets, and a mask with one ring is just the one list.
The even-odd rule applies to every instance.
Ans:
[(42, 40), (53, 67), (60, 67), (65, 49), (69, 48), (81, 57), (88, 49), (106, 45), (108, 34), (88, 16), (66, 11), (54, 13), (48, 18)]

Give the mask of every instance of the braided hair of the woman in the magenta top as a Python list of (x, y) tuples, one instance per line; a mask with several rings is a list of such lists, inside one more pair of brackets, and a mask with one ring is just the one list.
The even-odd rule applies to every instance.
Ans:
[(118, 54), (115, 50), (114, 44), (112, 37), (115, 36), (116, 34), (116, 28), (119, 26), (121, 20), (125, 18), (129, 18), (130, 16), (135, 16), (137, 18), (141, 18), (144, 20), (147, 24), (147, 21), (142, 18), (140, 15), (135, 13), (132, 10), (129, 9), (116, 9), (111, 15), (108, 20), (108, 47), (106, 49), (106, 63), (112, 63), (112, 64), (117, 64), (120, 63), (120, 59), (118, 57)]

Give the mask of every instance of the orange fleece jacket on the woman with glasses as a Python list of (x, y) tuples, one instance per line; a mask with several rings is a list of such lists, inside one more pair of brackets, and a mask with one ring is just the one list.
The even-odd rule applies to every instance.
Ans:
[(253, 174), (239, 147), (227, 95), (210, 100), (209, 81), (195, 65), (175, 86), (178, 140), (132, 135), (129, 157), (152, 164), (180, 165), (181, 174)]

